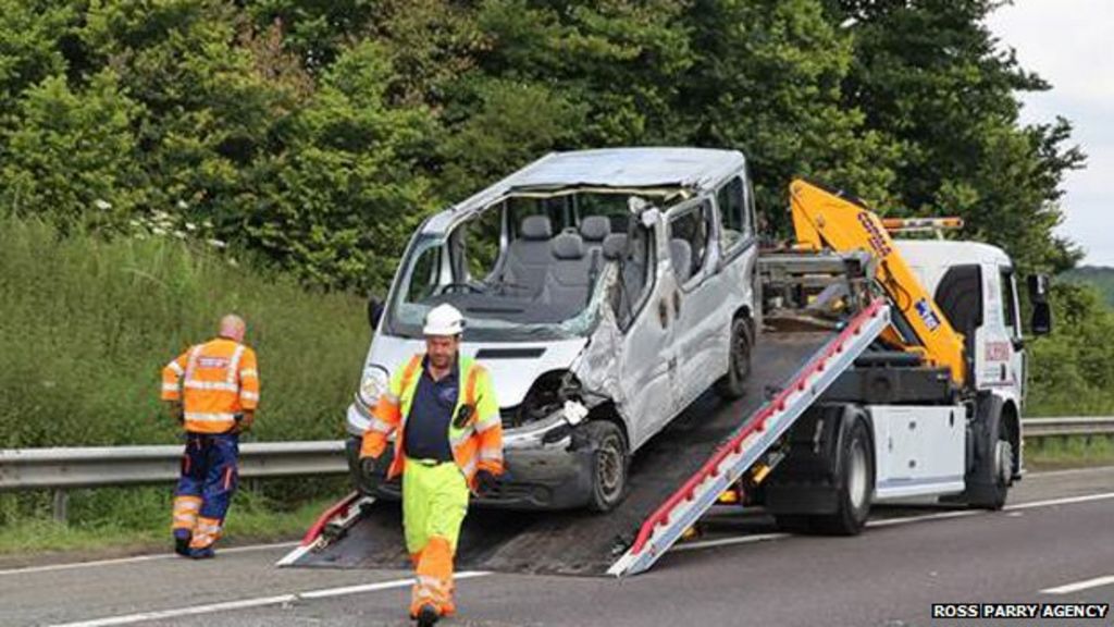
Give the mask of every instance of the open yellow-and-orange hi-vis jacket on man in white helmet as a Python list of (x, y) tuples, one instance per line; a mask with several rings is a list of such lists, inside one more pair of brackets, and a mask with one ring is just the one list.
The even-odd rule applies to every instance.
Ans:
[[(414, 355), (401, 370), (391, 377), (389, 389), (379, 396), (372, 412), (371, 424), (363, 434), (361, 457), (379, 457), (387, 450), (387, 437), (398, 430), (394, 437), (394, 459), (387, 471), (390, 481), (402, 474), (405, 464), (403, 442), (410, 405), (418, 389), (423, 355)], [(476, 488), (476, 473), (486, 470), (491, 474), (502, 474), (502, 423), (499, 419), (499, 403), (488, 372), (471, 358), (460, 357), (461, 380), (466, 382), (452, 412), (453, 418), (465, 405), (472, 407), (468, 422), (457, 426), (456, 419), (449, 424), (449, 446), (452, 459)]]

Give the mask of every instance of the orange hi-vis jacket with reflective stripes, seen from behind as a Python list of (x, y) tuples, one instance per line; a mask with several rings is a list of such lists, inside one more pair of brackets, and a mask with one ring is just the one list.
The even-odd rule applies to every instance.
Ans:
[(193, 346), (163, 368), (163, 401), (182, 401), (190, 433), (227, 433), (260, 403), (255, 351), (226, 338)]

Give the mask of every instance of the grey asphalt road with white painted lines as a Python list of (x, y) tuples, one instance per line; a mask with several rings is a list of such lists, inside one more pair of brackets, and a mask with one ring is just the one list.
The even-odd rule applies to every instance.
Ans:
[[(408, 625), (408, 573), (276, 569), (289, 547), (0, 570), (0, 625)], [(1003, 512), (885, 508), (856, 538), (717, 514), (626, 580), (466, 575), (444, 625), (984, 625), (940, 602), (1114, 602), (1114, 469), (1030, 474)], [(1057, 625), (1114, 625), (1105, 618)], [(996, 619), (1045, 625), (1049, 619)]]

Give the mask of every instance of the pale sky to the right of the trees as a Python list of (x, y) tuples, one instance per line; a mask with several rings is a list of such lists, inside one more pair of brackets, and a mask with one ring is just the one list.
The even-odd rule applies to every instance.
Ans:
[(1087, 167), (1067, 175), (1057, 233), (1083, 245), (1083, 264), (1114, 267), (1114, 0), (1015, 0), (987, 26), (1052, 84), (1022, 95), (1022, 122), (1062, 115), (1087, 154)]

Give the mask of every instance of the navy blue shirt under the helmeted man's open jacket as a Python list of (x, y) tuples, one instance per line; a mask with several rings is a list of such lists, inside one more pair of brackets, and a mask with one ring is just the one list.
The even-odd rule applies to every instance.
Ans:
[(452, 409), (460, 395), (459, 370), (459, 366), (453, 364), (449, 374), (436, 382), (429, 375), (429, 357), (422, 359), (421, 377), (410, 403), (405, 441), (402, 443), (408, 457), (452, 461), (449, 423), (452, 422)]

